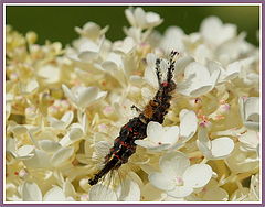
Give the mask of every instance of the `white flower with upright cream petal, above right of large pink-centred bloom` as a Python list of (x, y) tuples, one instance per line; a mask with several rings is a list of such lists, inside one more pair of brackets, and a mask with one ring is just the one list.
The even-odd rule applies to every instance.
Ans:
[(197, 145), (208, 160), (227, 157), (234, 149), (233, 140), (227, 137), (216, 138), (210, 141), (205, 127), (199, 128)]

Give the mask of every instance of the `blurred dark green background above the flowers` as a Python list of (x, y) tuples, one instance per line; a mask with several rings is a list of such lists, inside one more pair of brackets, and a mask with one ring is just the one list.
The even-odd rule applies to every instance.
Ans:
[[(17, 31), (38, 33), (38, 43), (45, 40), (70, 44), (78, 35), (75, 26), (83, 26), (94, 21), (102, 28), (109, 25), (107, 39), (115, 41), (125, 37), (124, 26), (128, 26), (121, 6), (8, 6), (7, 24)], [(209, 15), (216, 15), (225, 23), (237, 25), (237, 31), (247, 33), (246, 40), (257, 45), (259, 26), (258, 6), (152, 6), (142, 7), (145, 11), (160, 14), (163, 23), (156, 29), (163, 32), (170, 25), (178, 25), (189, 34), (199, 30), (201, 21)]]

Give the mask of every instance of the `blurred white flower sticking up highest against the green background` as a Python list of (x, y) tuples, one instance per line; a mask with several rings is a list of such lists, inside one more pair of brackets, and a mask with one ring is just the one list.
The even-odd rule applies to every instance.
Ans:
[(141, 8), (129, 8), (125, 10), (125, 15), (130, 25), (140, 29), (150, 29), (162, 22), (160, 15), (155, 12), (145, 12)]

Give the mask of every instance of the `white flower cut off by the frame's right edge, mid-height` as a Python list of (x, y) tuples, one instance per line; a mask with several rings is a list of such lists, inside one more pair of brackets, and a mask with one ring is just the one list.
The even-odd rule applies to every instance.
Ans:
[(243, 124), (251, 130), (259, 131), (259, 97), (239, 99)]

